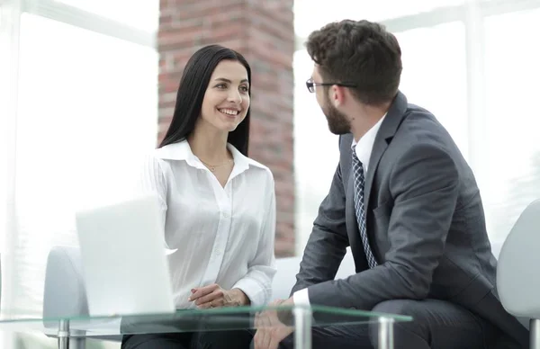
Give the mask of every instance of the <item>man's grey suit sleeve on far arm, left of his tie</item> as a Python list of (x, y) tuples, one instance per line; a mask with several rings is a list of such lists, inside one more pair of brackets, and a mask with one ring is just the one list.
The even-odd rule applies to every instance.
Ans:
[(345, 222), (345, 192), (340, 166), (336, 169), (329, 194), (322, 201), (319, 214), (304, 250), (295, 291), (334, 279), (348, 246)]

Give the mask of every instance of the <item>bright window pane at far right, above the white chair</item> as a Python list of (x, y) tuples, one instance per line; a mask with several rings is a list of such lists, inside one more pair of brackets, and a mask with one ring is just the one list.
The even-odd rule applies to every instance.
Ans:
[(485, 19), (486, 115), (489, 153), (482, 192), (491, 240), (502, 241), (519, 214), (540, 199), (540, 9)]

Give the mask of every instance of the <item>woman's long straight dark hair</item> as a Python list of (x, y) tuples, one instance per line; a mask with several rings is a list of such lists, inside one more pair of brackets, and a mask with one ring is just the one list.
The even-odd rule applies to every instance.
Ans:
[[(187, 138), (201, 115), (202, 100), (210, 83), (210, 77), (221, 60), (238, 61), (247, 70), (248, 94), (251, 95), (251, 68), (246, 58), (233, 49), (209, 45), (197, 50), (185, 65), (176, 94), (175, 113), (159, 148)], [(236, 130), (229, 132), (228, 142), (247, 157), (249, 143), (249, 109), (246, 118)]]

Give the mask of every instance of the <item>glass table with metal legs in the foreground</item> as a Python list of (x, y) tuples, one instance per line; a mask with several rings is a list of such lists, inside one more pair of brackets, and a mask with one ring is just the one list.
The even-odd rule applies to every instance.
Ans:
[[(262, 322), (271, 314), (273, 322)], [(294, 348), (311, 349), (311, 328), (332, 325), (378, 324), (379, 349), (393, 349), (393, 324), (411, 317), (356, 309), (311, 307), (238, 307), (177, 310), (168, 314), (42, 318), (40, 314), (2, 311), (0, 330), (40, 332), (58, 337), (58, 349), (68, 349), (70, 338), (120, 339), (122, 335), (294, 327)]]

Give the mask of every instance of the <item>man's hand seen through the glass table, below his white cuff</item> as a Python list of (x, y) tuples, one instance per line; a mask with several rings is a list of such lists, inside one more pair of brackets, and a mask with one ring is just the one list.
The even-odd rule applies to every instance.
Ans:
[[(292, 307), (293, 305), (293, 298), (275, 300), (269, 304), (270, 307)], [(255, 317), (255, 327), (257, 327), (257, 333), (253, 340), (255, 349), (277, 349), (279, 343), (294, 331), (293, 327), (286, 327), (279, 320), (277, 311), (274, 309), (257, 314)]]

